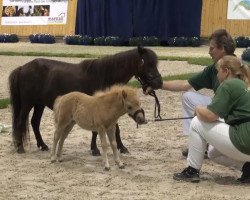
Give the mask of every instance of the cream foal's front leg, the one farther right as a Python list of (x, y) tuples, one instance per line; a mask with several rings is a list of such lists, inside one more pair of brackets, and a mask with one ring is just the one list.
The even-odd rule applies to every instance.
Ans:
[(118, 149), (117, 149), (117, 144), (116, 144), (116, 141), (115, 141), (115, 127), (108, 130), (107, 135), (108, 135), (108, 138), (109, 138), (110, 146), (111, 146), (111, 148), (113, 150), (115, 162), (119, 166), (120, 169), (124, 169), (125, 165), (120, 160), (119, 152), (118, 152)]

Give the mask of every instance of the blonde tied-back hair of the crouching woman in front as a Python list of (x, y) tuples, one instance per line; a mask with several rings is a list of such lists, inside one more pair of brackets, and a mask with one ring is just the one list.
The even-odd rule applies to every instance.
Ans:
[(230, 69), (233, 77), (239, 78), (250, 85), (250, 69), (247, 65), (242, 64), (236, 56), (223, 56), (217, 65), (222, 69)]

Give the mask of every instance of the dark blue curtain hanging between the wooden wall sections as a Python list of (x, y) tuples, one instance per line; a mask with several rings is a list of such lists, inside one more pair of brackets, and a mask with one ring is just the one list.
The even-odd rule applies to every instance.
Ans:
[(201, 0), (78, 0), (76, 34), (199, 37)]

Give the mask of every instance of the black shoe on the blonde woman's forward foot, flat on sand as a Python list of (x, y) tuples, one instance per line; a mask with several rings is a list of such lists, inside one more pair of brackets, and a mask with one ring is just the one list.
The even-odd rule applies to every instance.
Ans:
[(181, 173), (175, 173), (173, 179), (176, 181), (198, 183), (200, 182), (199, 170), (189, 166), (185, 168)]

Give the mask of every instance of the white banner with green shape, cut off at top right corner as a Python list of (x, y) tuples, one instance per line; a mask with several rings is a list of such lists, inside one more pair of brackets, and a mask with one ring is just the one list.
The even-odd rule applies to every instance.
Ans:
[(228, 0), (227, 19), (250, 19), (250, 0)]

